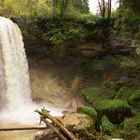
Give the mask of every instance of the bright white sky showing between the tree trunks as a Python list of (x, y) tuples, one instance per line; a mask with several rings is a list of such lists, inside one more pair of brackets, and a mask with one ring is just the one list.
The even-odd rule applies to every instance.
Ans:
[[(105, 0), (107, 1), (107, 0)], [(118, 0), (112, 0), (112, 10), (118, 7)], [(89, 0), (89, 8), (92, 13), (97, 13), (98, 10), (98, 0)]]

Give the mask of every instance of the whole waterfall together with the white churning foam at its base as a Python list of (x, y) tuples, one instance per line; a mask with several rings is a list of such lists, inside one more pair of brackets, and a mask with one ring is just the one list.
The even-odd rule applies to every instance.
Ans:
[[(34, 122), (36, 108), (40, 106), (32, 103), (21, 31), (10, 19), (0, 17), (0, 121)], [(49, 104), (47, 108), (60, 114)]]

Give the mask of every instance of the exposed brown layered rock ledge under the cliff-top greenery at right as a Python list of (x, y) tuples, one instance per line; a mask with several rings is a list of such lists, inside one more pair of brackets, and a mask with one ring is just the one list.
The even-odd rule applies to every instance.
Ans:
[(79, 47), (82, 54), (89, 58), (102, 58), (106, 55), (129, 55), (134, 52), (133, 41), (124, 36), (115, 36), (104, 44), (90, 42)]

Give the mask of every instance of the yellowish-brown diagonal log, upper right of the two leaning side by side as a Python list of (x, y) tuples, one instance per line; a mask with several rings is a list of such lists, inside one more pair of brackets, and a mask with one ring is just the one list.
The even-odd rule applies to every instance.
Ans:
[(39, 113), (41, 116), (44, 117), (44, 119), (50, 119), (54, 124), (56, 124), (62, 131), (63, 133), (66, 134), (66, 136), (68, 136), (71, 140), (77, 140), (77, 138), (73, 135), (73, 133), (71, 133), (70, 131), (68, 131), (67, 128), (64, 127), (63, 124), (61, 124), (61, 122), (59, 122), (55, 117), (51, 116), (49, 114), (49, 112), (46, 109), (42, 109), (41, 111), (35, 110), (35, 112)]

